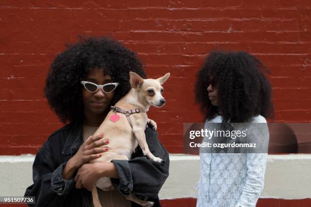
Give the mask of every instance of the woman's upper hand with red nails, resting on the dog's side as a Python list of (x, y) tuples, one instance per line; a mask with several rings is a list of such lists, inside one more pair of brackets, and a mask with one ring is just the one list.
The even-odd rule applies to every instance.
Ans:
[(105, 147), (105, 145), (107, 145), (109, 141), (104, 140), (103, 137), (103, 134), (89, 136), (80, 146), (77, 153), (69, 160), (76, 169), (90, 160), (101, 157), (102, 154), (99, 153), (108, 151), (108, 148)]

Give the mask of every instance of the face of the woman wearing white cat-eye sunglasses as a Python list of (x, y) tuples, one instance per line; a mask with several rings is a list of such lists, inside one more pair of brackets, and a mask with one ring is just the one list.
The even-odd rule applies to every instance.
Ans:
[[(101, 68), (94, 68), (90, 70), (88, 76), (84, 81), (92, 82), (97, 85), (104, 85), (106, 83), (112, 83), (112, 79), (109, 75), (104, 75), (104, 70)], [(84, 114), (88, 115), (101, 115), (107, 107), (110, 106), (110, 102), (113, 98), (114, 91), (110, 93), (103, 92), (102, 89), (98, 89), (92, 93), (87, 91), (82, 85), (82, 100), (84, 105)]]

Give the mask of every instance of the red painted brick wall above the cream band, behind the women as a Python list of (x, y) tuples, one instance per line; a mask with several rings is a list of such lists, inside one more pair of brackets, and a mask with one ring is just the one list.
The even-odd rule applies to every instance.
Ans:
[(36, 153), (59, 128), (43, 98), (46, 72), (77, 34), (109, 35), (167, 72), (167, 105), (151, 109), (160, 140), (182, 152), (182, 123), (200, 122), (195, 74), (214, 48), (246, 50), (272, 71), (277, 121), (311, 121), (309, 0), (0, 1), (0, 154)]

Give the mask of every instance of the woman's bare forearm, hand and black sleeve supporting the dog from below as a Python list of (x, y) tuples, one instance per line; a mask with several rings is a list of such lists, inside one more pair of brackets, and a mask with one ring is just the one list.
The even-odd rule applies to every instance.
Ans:
[[(83, 164), (77, 172), (76, 186), (90, 191), (99, 178), (109, 177), (113, 187), (123, 195), (131, 192), (144, 198), (157, 198), (158, 193), (168, 177), (169, 154), (159, 142), (157, 132), (147, 128), (146, 141), (151, 153), (164, 162), (154, 162), (143, 156), (142, 152), (134, 153), (131, 160), (112, 160)], [(141, 151), (141, 150), (140, 150)], [(138, 155), (139, 154), (139, 155)], [(83, 184), (82, 184), (83, 183)]]

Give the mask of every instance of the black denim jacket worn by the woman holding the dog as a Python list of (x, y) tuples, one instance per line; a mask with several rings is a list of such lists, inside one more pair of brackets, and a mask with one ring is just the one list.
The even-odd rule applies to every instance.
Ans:
[[(24, 196), (35, 196), (36, 204), (29, 206), (92, 206), (91, 192), (85, 188), (76, 189), (74, 178), (62, 177), (67, 161), (83, 143), (83, 120), (67, 124), (52, 133), (36, 154), (33, 164), (34, 184), (26, 189)], [(148, 147), (163, 163), (151, 161), (143, 156), (139, 147), (129, 161), (112, 160), (119, 179), (111, 179), (112, 185), (123, 195), (130, 192), (143, 200), (153, 201), (161, 206), (158, 193), (169, 174), (169, 154), (158, 140), (158, 133), (147, 127), (145, 130)], [(140, 206), (132, 202), (132, 206)]]

